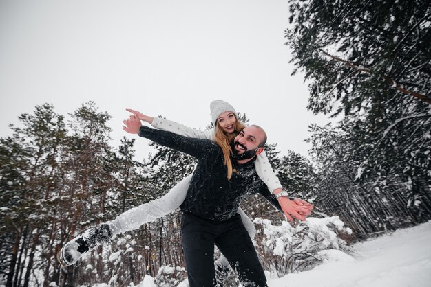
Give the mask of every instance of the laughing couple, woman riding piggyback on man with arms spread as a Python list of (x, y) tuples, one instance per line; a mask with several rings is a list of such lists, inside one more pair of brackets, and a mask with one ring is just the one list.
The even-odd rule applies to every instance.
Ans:
[[(243, 286), (266, 286), (264, 271), (251, 241), (255, 229), (239, 209), (240, 201), (259, 192), (291, 221), (291, 216), (304, 220), (313, 206), (304, 200), (289, 200), (286, 192), (282, 192), (280, 181), (263, 152), (266, 134), (262, 128), (244, 126), (227, 102), (213, 101), (210, 108), (215, 126), (210, 134), (128, 110), (133, 115), (124, 121), (127, 133), (196, 157), (196, 170), (162, 198), (135, 207), (65, 244), (61, 251), (63, 264), (74, 264), (81, 257), (79, 254), (109, 242), (113, 235), (136, 229), (180, 206), (182, 246), (191, 287), (215, 285), (214, 244)], [(142, 126), (141, 120), (161, 130)]]

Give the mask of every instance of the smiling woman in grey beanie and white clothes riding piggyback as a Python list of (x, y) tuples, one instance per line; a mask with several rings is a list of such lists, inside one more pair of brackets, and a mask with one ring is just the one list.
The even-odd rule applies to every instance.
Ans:
[[(215, 100), (211, 102), (210, 109), (211, 119), (215, 128), (209, 132), (188, 128), (167, 119), (149, 117), (131, 109), (127, 109), (127, 111), (133, 114), (130, 116), (131, 118), (138, 118), (141, 121), (148, 122), (151, 126), (160, 130), (167, 130), (187, 137), (213, 139), (213, 141), (222, 148), (224, 165), (227, 166), (227, 178), (230, 179), (233, 174), (230, 159), (230, 154), (232, 152), (231, 143), (245, 126), (238, 121), (235, 109), (227, 102)], [(277, 179), (277, 176), (275, 176), (264, 152), (258, 155), (255, 161), (255, 169), (260, 179), (269, 187), (269, 190), (273, 192), (281, 191), (282, 187), (280, 181)], [(112, 236), (138, 229), (141, 225), (174, 211), (185, 200), (190, 179), (191, 175), (187, 176), (161, 198), (130, 209), (120, 214), (120, 216), (111, 222), (98, 225), (93, 229), (88, 229), (84, 233), (81, 233), (81, 235), (63, 246), (61, 254), (59, 254), (61, 255), (59, 256), (60, 262), (65, 266), (72, 265), (84, 253), (87, 253), (98, 244), (109, 242)], [(312, 208), (312, 206), (308, 205), (304, 200), (295, 199), (294, 201), (297, 205), (306, 206), (308, 209)], [(244, 214), (242, 209), (238, 209), (238, 214), (240, 214), (244, 226), (249, 232), (251, 239), (253, 239), (255, 236), (253, 222)]]

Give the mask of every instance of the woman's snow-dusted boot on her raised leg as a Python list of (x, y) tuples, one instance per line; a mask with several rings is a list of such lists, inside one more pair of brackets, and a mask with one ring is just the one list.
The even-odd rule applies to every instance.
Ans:
[(63, 266), (75, 264), (85, 253), (98, 245), (109, 243), (111, 238), (112, 229), (107, 224), (85, 229), (63, 246), (58, 255), (59, 262)]

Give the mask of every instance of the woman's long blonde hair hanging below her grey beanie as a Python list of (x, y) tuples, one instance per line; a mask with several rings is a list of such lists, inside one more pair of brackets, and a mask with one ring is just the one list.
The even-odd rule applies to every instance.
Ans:
[(231, 161), (231, 142), (235, 139), (235, 137), (240, 133), (241, 130), (245, 128), (245, 125), (242, 122), (235, 122), (235, 132), (234, 133), (224, 133), (222, 128), (218, 125), (218, 122), (215, 122), (215, 134), (214, 141), (215, 143), (222, 148), (223, 156), (224, 156), (224, 165), (227, 166), (227, 179), (230, 180), (233, 172), (232, 161)]

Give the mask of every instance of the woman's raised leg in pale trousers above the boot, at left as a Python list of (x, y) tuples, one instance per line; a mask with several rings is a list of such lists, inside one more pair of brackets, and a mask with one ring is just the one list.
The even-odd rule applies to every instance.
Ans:
[(112, 228), (113, 236), (138, 229), (141, 225), (161, 218), (177, 209), (185, 200), (190, 180), (191, 174), (172, 187), (164, 196), (129, 209), (114, 220), (107, 222)]

